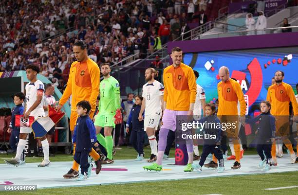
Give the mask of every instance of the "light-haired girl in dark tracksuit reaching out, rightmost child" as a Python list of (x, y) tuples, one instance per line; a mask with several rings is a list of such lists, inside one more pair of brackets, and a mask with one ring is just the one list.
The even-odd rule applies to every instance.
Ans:
[[(268, 101), (261, 102), (261, 114), (253, 119), (247, 119), (246, 122), (255, 124), (259, 122), (257, 134), (257, 152), (261, 157), (259, 167), (263, 170), (270, 170), (271, 164), (271, 146), (275, 140), (275, 118), (270, 114), (271, 104)], [(265, 158), (265, 156), (266, 158)]]

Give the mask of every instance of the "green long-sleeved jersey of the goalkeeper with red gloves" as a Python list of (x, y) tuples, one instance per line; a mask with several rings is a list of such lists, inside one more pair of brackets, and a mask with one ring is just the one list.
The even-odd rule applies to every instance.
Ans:
[(120, 108), (120, 89), (118, 81), (110, 76), (100, 82), (99, 114), (115, 114)]

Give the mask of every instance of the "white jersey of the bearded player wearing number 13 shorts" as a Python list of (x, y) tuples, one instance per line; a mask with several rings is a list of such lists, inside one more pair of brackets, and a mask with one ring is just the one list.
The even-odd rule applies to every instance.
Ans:
[(160, 96), (164, 95), (164, 86), (158, 81), (152, 84), (146, 83), (143, 86), (143, 98), (146, 99), (145, 115), (154, 115), (161, 113)]

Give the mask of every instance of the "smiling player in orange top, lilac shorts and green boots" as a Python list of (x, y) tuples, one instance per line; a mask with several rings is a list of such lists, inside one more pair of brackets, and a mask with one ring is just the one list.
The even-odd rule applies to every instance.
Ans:
[[(171, 51), (173, 64), (164, 70), (164, 113), (162, 126), (159, 131), (158, 155), (156, 163), (144, 166), (146, 170), (161, 171), (169, 130), (176, 130), (176, 116), (192, 116), (196, 100), (197, 86), (193, 70), (183, 64), (182, 50), (174, 47)], [(191, 117), (189, 117), (191, 118)], [(185, 172), (193, 171), (193, 141), (186, 139), (188, 162)]]

